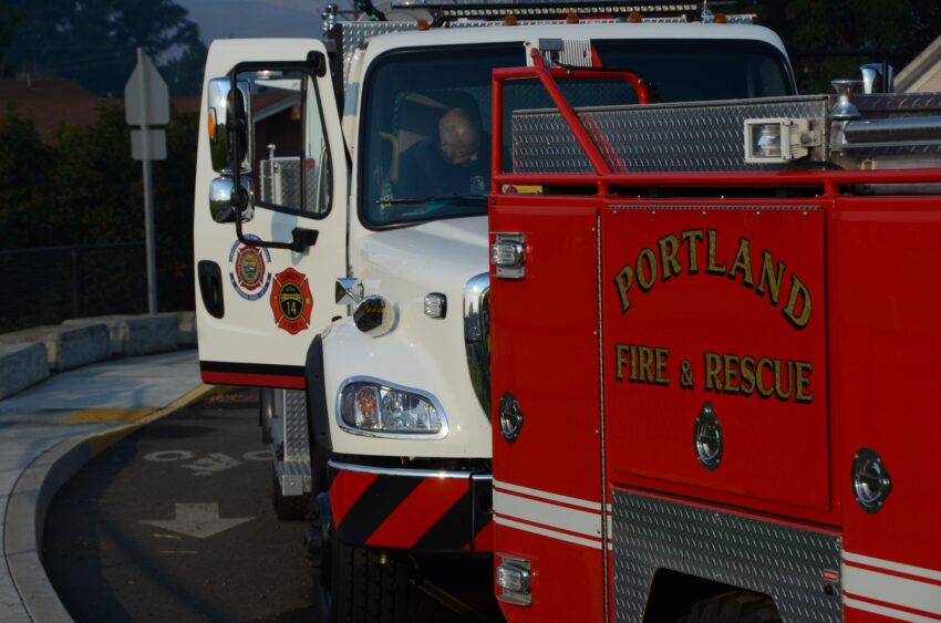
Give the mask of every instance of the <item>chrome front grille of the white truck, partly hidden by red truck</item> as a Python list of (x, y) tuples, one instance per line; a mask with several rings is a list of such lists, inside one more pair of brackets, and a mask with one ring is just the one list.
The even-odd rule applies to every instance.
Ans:
[(471, 385), (490, 417), (490, 276), (472, 277), (464, 284), (464, 345)]

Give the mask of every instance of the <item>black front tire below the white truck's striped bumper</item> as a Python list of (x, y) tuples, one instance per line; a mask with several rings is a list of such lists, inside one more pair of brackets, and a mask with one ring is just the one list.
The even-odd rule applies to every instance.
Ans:
[(406, 620), (409, 561), (400, 553), (354, 548), (331, 539), (331, 623)]

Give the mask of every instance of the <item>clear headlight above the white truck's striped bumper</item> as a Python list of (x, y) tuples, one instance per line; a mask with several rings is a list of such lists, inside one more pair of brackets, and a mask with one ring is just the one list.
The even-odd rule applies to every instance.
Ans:
[(437, 401), (376, 380), (350, 380), (340, 390), (340, 424), (352, 433), (391, 437), (444, 437), (447, 425)]

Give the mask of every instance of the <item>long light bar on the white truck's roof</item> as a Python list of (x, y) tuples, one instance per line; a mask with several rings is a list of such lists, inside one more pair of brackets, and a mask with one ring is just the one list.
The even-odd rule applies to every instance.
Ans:
[(501, 0), (482, 2), (480, 0), (393, 0), (395, 9), (426, 9), (438, 11), (451, 18), (497, 18), (514, 14), (519, 18), (557, 17), (577, 14), (623, 14), (645, 13), (651, 15), (679, 15), (702, 10), (699, 2), (658, 2), (638, 1), (593, 1), (572, 2), (571, 0)]

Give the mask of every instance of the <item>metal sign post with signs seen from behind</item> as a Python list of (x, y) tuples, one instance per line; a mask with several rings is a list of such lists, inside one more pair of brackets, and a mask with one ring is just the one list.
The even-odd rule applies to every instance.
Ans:
[(157, 270), (154, 249), (154, 201), (151, 160), (166, 159), (166, 134), (151, 126), (169, 123), (169, 91), (144, 50), (137, 48), (137, 66), (124, 86), (124, 116), (131, 132), (131, 157), (141, 160), (144, 174), (144, 233), (147, 248), (147, 312), (157, 313)]

